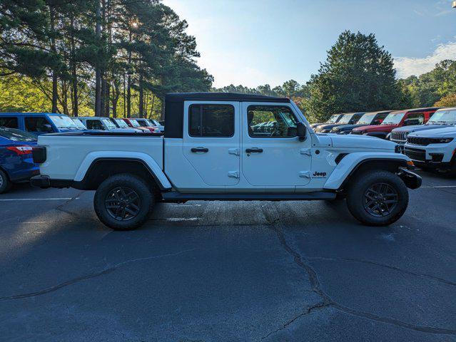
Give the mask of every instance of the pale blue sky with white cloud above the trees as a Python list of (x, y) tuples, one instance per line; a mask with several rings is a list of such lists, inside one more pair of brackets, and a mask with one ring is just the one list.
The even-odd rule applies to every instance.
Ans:
[(196, 37), (198, 65), (217, 88), (309, 81), (339, 34), (375, 33), (397, 77), (456, 59), (450, 0), (163, 0)]

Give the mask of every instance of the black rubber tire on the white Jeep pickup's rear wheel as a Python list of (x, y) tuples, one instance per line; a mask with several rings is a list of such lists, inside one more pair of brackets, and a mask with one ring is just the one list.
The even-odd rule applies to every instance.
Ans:
[[(134, 192), (133, 197), (138, 197), (136, 204), (139, 205), (135, 204), (136, 207), (139, 207), (138, 214), (128, 220), (122, 220), (121, 217), (118, 217), (118, 219), (113, 217), (112, 213), (115, 212), (115, 209), (108, 209), (108, 204), (106, 204), (107, 198), (113, 198), (110, 195), (120, 188), (132, 190)], [(108, 177), (107, 180), (101, 183), (98, 190), (96, 190), (95, 197), (93, 197), (93, 207), (98, 219), (106, 226), (121, 231), (141, 227), (151, 214), (154, 204), (155, 198), (151, 192), (151, 187), (140, 177), (129, 174)], [(125, 202), (123, 202), (123, 205), (125, 205)]]

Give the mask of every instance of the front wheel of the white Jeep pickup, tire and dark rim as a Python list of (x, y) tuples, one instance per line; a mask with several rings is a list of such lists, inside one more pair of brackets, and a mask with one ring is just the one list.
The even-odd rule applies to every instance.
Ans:
[(387, 226), (400, 219), (407, 209), (407, 187), (392, 172), (363, 172), (352, 182), (347, 194), (348, 209), (363, 224)]

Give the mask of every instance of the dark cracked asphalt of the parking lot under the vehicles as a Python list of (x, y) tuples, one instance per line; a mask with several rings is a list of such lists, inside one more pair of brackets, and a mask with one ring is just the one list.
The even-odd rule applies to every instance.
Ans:
[(113, 232), (93, 192), (0, 195), (2, 341), (456, 341), (456, 180), (391, 227), (345, 203), (159, 204)]

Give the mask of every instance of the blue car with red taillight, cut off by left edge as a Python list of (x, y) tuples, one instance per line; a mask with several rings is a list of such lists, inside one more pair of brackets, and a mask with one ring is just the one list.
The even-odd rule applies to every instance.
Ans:
[(0, 194), (13, 183), (28, 182), (39, 175), (32, 159), (36, 136), (14, 128), (0, 128)]

